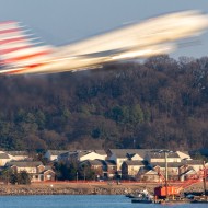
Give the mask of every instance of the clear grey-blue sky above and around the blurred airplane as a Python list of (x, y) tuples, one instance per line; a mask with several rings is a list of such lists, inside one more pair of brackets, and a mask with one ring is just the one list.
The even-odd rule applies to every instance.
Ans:
[[(49, 45), (65, 45), (169, 12), (200, 10), (207, 0), (0, 0), (0, 21), (20, 21)], [(208, 31), (199, 44), (172, 57), (208, 56)]]

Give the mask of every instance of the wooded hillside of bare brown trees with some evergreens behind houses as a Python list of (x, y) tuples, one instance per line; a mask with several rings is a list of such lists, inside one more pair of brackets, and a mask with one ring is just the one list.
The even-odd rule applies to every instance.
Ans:
[(208, 58), (0, 78), (0, 148), (208, 148)]

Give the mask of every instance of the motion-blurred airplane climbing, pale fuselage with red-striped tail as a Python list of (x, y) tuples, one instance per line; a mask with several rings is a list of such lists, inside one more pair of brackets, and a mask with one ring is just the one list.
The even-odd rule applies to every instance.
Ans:
[(146, 20), (71, 45), (43, 46), (18, 22), (0, 23), (0, 73), (55, 73), (167, 54), (177, 41), (201, 34), (208, 16), (184, 11)]

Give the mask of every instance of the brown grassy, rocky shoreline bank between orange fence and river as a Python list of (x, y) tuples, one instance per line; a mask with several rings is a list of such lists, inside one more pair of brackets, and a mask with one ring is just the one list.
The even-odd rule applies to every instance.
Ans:
[[(1, 185), (0, 195), (126, 195), (147, 188), (153, 193), (157, 184), (107, 183), (47, 183), (31, 185)], [(184, 192), (203, 192), (203, 184), (193, 185)]]

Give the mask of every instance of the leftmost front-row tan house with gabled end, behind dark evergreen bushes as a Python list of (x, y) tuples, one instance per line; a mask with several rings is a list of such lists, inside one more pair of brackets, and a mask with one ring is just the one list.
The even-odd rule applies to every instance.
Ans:
[(31, 175), (31, 182), (54, 181), (55, 172), (39, 161), (12, 161), (7, 164), (15, 173), (25, 171)]

